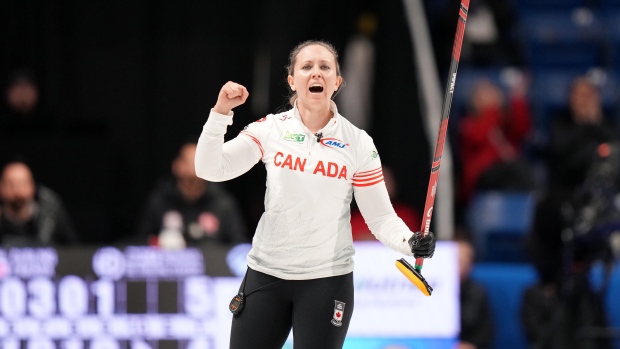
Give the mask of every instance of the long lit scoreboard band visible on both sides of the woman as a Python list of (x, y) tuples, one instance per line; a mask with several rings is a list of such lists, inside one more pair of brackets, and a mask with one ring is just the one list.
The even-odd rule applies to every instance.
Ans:
[[(0, 249), (0, 348), (227, 348), (228, 302), (239, 288), (249, 248)], [(453, 344), (453, 246), (438, 243), (435, 256), (442, 257), (425, 264), (431, 297), (394, 267), (400, 255), (380, 243), (355, 248), (356, 304), (345, 348), (368, 348), (367, 340), (382, 338)], [(416, 321), (416, 314), (424, 321)]]

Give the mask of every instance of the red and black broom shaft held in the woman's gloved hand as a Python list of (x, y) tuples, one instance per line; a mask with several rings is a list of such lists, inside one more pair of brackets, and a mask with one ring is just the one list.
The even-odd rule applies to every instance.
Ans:
[[(435, 204), (435, 194), (437, 192), (437, 181), (439, 179), (439, 166), (441, 165), (441, 155), (443, 153), (443, 145), (448, 132), (448, 120), (450, 119), (450, 106), (452, 105), (452, 95), (454, 92), (454, 84), (456, 83), (456, 71), (459, 66), (459, 58), (461, 57), (461, 47), (463, 45), (463, 34), (465, 33), (465, 22), (467, 21), (467, 11), (469, 9), (469, 0), (461, 0), (461, 8), (459, 9), (459, 18), (456, 25), (456, 34), (454, 36), (454, 45), (452, 46), (452, 59), (450, 60), (450, 71), (448, 73), (448, 82), (441, 108), (441, 121), (439, 124), (439, 132), (437, 134), (437, 144), (435, 144), (435, 154), (433, 155), (433, 163), (431, 165), (431, 175), (428, 181), (428, 189), (426, 191), (426, 202), (424, 204), (424, 216), (422, 217), (422, 227), (420, 230), (426, 235), (431, 226), (431, 217), (433, 216), (433, 206)], [(415, 269), (422, 270), (424, 264), (423, 258), (416, 258)]]

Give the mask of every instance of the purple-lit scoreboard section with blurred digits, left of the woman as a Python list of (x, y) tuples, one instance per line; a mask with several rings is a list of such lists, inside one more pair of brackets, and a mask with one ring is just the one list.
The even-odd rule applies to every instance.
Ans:
[(215, 297), (222, 285), (232, 287), (206, 275), (197, 248), (0, 250), (0, 345), (217, 348), (213, 338), (230, 325), (215, 310), (225, 310)]

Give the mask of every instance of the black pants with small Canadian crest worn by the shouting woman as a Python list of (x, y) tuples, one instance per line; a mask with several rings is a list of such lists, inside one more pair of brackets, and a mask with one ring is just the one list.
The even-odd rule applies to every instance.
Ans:
[(231, 349), (281, 349), (291, 327), (295, 349), (344, 345), (353, 313), (353, 273), (282, 280), (248, 269), (239, 290), (244, 287), (248, 296), (232, 320)]

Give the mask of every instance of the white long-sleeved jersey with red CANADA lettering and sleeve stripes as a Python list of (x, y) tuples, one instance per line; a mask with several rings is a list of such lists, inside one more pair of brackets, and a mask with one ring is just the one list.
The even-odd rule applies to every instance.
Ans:
[[(318, 133), (296, 108), (268, 115), (223, 143), (232, 117), (211, 112), (198, 142), (196, 171), (221, 181), (267, 169), (265, 212), (256, 228), (248, 266), (288, 280), (353, 271), (350, 204), (353, 194), (373, 234), (411, 255), (412, 235), (389, 202), (372, 138), (338, 114)], [(369, 219), (370, 218), (370, 219)]]

